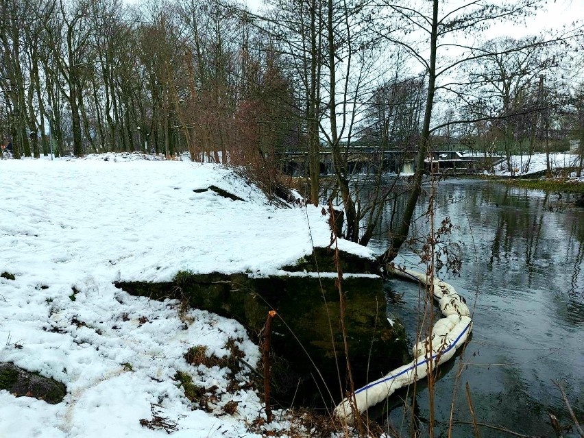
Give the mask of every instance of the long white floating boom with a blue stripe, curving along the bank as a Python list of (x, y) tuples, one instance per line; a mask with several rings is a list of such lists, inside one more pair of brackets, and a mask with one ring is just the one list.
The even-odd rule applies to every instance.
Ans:
[[(426, 273), (404, 267), (392, 267), (391, 273), (426, 285), (430, 282)], [(430, 361), (432, 361), (432, 369), (435, 369), (454, 356), (470, 334), (472, 327), (470, 311), (464, 298), (454, 290), (454, 287), (438, 278), (434, 278), (434, 298), (438, 301), (444, 317), (435, 322), (431, 337), (414, 345), (413, 361), (356, 390), (354, 396), (351, 397), (352, 400), (345, 398), (334, 409), (334, 415), (347, 423), (352, 423), (354, 419), (352, 406), (355, 403), (354, 409), (363, 413), (398, 389), (426, 377)]]

